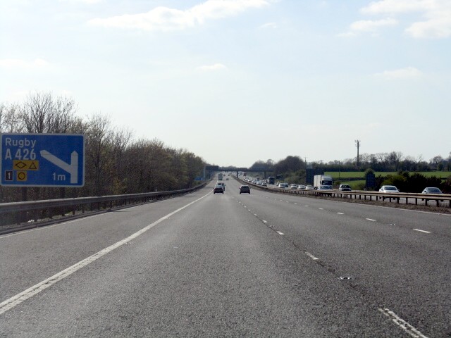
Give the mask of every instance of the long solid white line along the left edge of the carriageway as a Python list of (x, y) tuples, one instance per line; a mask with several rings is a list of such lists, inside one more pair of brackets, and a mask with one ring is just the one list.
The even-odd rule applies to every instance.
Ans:
[(47, 280), (43, 280), (42, 282), (33, 285), (32, 287), (26, 289), (23, 292), (20, 292), (20, 294), (16, 294), (16, 296), (12, 296), (10, 299), (6, 299), (6, 301), (2, 301), (0, 303), (0, 315), (5, 313), (8, 310), (11, 310), (11, 308), (19, 305), (23, 301), (26, 301), (27, 299), (31, 298), (32, 296), (35, 296), (36, 294), (39, 294), (39, 292), (44, 291), (44, 289), (47, 289), (48, 287), (51, 287), (56, 282), (59, 282), (60, 280), (63, 280), (64, 278), (68, 277), (69, 275), (72, 275), (75, 273), (75, 271), (80, 270), (81, 268), (85, 267), (86, 265), (89, 265), (90, 263), (97, 261), (97, 259), (101, 258), (102, 256), (105, 256), (106, 253), (109, 253), (113, 251), (114, 249), (117, 249), (120, 246), (123, 246), (124, 244), (127, 244), (132, 239), (135, 239), (136, 237), (140, 236), (141, 234), (144, 234), (144, 232), (147, 232), (147, 230), (152, 229), (155, 225), (158, 225), (159, 223), (163, 222), (163, 220), (167, 220), (172, 215), (175, 215), (175, 213), (178, 213), (179, 211), (182, 211), (183, 209), (187, 208), (188, 206), (191, 206), (192, 204), (196, 203), (197, 201), (200, 201), (206, 196), (209, 196), (211, 192), (208, 194), (202, 196), (201, 198), (190, 202), (186, 206), (183, 206), (181, 208), (178, 208), (177, 210), (173, 211), (172, 213), (168, 213), (168, 215), (163, 216), (159, 220), (156, 220), (154, 223), (147, 225), (146, 227), (143, 227), (141, 230), (135, 232), (134, 234), (130, 235), (129, 237), (126, 237), (122, 239), (119, 242), (116, 242), (115, 244), (108, 246), (107, 248), (94, 253), (94, 255), (89, 256), (82, 261), (75, 263), (74, 265), (70, 266), (69, 268), (64, 269), (63, 271), (56, 273), (56, 275), (53, 275)]

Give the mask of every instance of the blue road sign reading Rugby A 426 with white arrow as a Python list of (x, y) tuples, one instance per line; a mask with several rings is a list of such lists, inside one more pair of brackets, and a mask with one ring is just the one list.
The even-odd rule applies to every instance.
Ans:
[(82, 187), (85, 136), (81, 134), (0, 134), (1, 185)]

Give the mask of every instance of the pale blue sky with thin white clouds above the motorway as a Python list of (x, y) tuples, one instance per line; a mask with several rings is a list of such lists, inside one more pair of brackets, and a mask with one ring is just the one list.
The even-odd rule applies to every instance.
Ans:
[(51, 92), (217, 165), (451, 151), (450, 0), (1, 0), (0, 103)]

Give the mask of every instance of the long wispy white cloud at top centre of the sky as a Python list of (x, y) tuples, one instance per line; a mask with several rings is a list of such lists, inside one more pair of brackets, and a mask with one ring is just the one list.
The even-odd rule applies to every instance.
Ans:
[(238, 15), (249, 8), (261, 8), (266, 0), (208, 0), (187, 10), (156, 7), (147, 13), (118, 15), (89, 20), (91, 25), (148, 31), (185, 30), (215, 20)]

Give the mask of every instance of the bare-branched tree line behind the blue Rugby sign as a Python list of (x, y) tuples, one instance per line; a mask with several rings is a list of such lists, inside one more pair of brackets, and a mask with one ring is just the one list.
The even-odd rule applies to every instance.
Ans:
[(0, 202), (55, 199), (185, 189), (202, 176), (204, 160), (159, 139), (133, 139), (106, 115), (77, 115), (72, 98), (29, 94), (23, 104), (0, 104), (1, 133), (85, 135), (85, 186), (82, 188), (0, 187)]

